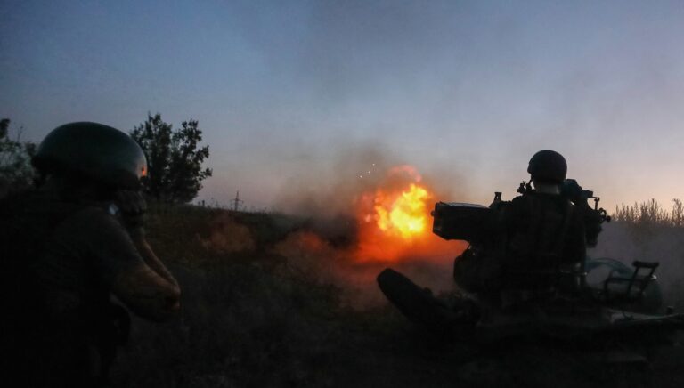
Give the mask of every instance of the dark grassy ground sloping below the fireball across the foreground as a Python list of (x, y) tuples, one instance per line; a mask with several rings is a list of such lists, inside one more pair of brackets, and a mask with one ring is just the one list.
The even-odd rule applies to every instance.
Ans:
[[(320, 252), (321, 247), (298, 246), (301, 240), (292, 238), (313, 229), (305, 220), (274, 214), (193, 206), (152, 212), (151, 245), (181, 282), (183, 313), (164, 324), (134, 319), (131, 340), (112, 373), (112, 386), (674, 387), (684, 383), (684, 347), (680, 346), (652, 352), (653, 361), (645, 367), (609, 367), (584, 352), (558, 346), (468, 349), (420, 332), (378, 298), (354, 303), (358, 287), (365, 287), (361, 292), (367, 293), (371, 289), (368, 279), (376, 268), (370, 267), (368, 271), (374, 273), (362, 277), (367, 284), (355, 287), (330, 280), (334, 278), (330, 274), (320, 276), (323, 268), (330, 272), (330, 266), (316, 255), (307, 257), (307, 252)], [(331, 246), (336, 244), (338, 240), (331, 240)]]

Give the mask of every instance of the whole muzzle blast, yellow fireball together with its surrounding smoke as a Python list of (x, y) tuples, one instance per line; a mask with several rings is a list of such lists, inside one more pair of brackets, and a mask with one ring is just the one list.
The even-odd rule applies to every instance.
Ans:
[(451, 289), (452, 261), (465, 243), (432, 234), (429, 212), (437, 201), (459, 198), (458, 177), (419, 171), (379, 147), (350, 148), (332, 160), (283, 189), (278, 208), (308, 222), (275, 253), (342, 288), (358, 308), (384, 301), (375, 278), (388, 266), (436, 292)]

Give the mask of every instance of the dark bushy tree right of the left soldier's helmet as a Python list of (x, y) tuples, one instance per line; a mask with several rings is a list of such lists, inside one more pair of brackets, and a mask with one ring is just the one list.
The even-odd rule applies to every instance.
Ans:
[(199, 147), (202, 131), (197, 120), (181, 123), (174, 130), (158, 113), (147, 115), (147, 121), (131, 131), (131, 137), (145, 151), (148, 175), (142, 179), (142, 189), (152, 198), (169, 203), (190, 202), (202, 188), (202, 181), (211, 176), (211, 169), (202, 169), (209, 158), (209, 146)]

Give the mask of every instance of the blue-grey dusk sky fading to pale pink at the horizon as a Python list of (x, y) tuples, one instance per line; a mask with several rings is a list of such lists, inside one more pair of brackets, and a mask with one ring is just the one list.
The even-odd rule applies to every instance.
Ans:
[(371, 154), (488, 204), (542, 149), (609, 211), (684, 198), (682, 2), (0, 4), (0, 117), (33, 141), (197, 119), (199, 199), (277, 207), (293, 185), (362, 179)]

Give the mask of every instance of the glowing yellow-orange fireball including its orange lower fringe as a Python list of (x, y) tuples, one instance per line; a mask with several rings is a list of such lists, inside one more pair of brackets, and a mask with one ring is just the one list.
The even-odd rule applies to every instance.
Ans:
[(357, 208), (359, 261), (454, 257), (462, 244), (432, 234), (430, 210), (436, 195), (412, 166), (392, 168), (374, 190), (362, 194)]

